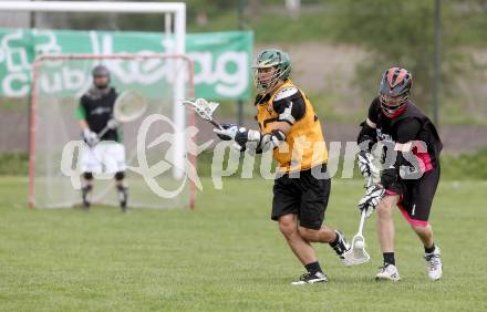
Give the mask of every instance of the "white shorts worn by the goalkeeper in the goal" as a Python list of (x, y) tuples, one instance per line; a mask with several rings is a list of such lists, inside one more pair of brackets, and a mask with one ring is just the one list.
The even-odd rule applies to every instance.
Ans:
[(125, 146), (117, 142), (102, 141), (93, 147), (83, 145), (80, 156), (81, 170), (93, 174), (125, 171)]

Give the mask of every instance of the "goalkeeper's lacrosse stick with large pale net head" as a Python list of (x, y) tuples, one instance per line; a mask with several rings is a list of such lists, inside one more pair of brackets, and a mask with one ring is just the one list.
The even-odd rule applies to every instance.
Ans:
[(117, 123), (129, 123), (139, 118), (146, 110), (147, 103), (141, 94), (135, 91), (122, 92), (113, 104), (113, 118), (99, 133), (99, 138), (103, 137), (111, 128), (116, 127)]

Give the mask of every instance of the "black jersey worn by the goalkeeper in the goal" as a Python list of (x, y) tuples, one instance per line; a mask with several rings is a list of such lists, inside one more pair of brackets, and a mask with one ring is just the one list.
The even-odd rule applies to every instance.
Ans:
[[(80, 106), (84, 110), (84, 117), (92, 132), (100, 133), (112, 118), (116, 97), (117, 93), (113, 87), (106, 94), (92, 96), (87, 92), (81, 97)], [(108, 129), (101, 139), (118, 142), (118, 138), (116, 129)]]

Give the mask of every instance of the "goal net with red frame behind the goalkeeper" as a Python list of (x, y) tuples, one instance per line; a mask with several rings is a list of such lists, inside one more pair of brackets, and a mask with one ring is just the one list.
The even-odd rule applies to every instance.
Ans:
[[(193, 116), (180, 105), (194, 93), (193, 63), (184, 54), (38, 58), (32, 69), (30, 205), (56, 208), (81, 204), (80, 155), (90, 148), (82, 141), (75, 111), (81, 96), (92, 87), (91, 73), (99, 64), (110, 70), (110, 84), (117, 94), (135, 92), (146, 103), (142, 116), (120, 123), (117, 129), (125, 146), (128, 206), (193, 206), (188, 170), (195, 162), (186, 153), (190, 136), (185, 132)], [(113, 174), (103, 169), (94, 173), (93, 185), (93, 205), (118, 205)]]

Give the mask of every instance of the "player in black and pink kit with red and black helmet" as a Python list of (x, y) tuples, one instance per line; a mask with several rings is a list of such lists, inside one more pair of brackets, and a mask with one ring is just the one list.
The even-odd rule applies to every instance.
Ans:
[(366, 216), (377, 207), (377, 236), (384, 257), (377, 280), (400, 280), (394, 259), (395, 205), (424, 246), (429, 279), (438, 280), (443, 273), (439, 248), (428, 222), (443, 144), (429, 118), (411, 102), (412, 83), (413, 76), (405, 69), (384, 72), (379, 96), (372, 101), (358, 138), (362, 148), (359, 167), (365, 177), (374, 171), (372, 145), (377, 141), (383, 145), (381, 183), (369, 187), (359, 204)]

